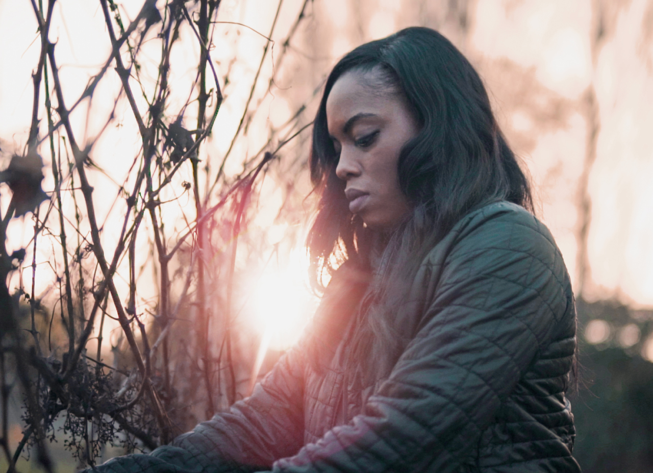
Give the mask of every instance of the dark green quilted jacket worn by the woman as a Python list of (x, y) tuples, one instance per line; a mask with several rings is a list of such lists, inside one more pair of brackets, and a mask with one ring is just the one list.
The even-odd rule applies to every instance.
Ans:
[[(323, 305), (355, 290), (336, 279)], [(411, 338), (374, 383), (343, 381), (347, 331), (325, 370), (306, 355), (320, 335), (308, 333), (228, 412), (97, 469), (579, 472), (564, 395), (575, 308), (546, 227), (510, 203), (475, 210), (428, 253), (410, 293), (421, 302), (397, 316)]]

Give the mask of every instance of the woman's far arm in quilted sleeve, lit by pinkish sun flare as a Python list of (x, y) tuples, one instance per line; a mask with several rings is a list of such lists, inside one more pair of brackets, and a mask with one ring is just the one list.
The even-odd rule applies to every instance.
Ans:
[(149, 455), (117, 457), (101, 473), (222, 473), (270, 468), (304, 445), (306, 363), (328, 356), (368, 284), (366, 273), (343, 265), (325, 291), (311, 329), (291, 348), (251, 397), (200, 423)]

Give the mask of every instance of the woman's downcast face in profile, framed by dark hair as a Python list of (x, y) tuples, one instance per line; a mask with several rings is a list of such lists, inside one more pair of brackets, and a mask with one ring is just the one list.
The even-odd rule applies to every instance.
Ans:
[(390, 230), (411, 210), (399, 187), (398, 159), (419, 126), (401, 95), (375, 87), (383, 84), (381, 74), (343, 74), (327, 98), (327, 125), (349, 210), (372, 229)]

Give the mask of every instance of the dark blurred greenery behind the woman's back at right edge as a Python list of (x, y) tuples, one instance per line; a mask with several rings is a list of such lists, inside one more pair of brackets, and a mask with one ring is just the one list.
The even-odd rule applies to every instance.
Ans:
[[(571, 399), (577, 429), (574, 453), (588, 473), (650, 472), (653, 363), (642, 353), (653, 333), (653, 311), (635, 315), (618, 302), (579, 301), (578, 312), (580, 387)], [(606, 324), (599, 339), (590, 333), (592, 321)], [(624, 336), (624, 329), (634, 336)]]

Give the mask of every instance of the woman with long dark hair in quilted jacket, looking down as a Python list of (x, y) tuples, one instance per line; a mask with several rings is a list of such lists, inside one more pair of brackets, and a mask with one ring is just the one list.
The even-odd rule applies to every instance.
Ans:
[(311, 177), (311, 329), (229, 412), (100, 469), (579, 471), (569, 277), (462, 54), (409, 28), (343, 57)]

